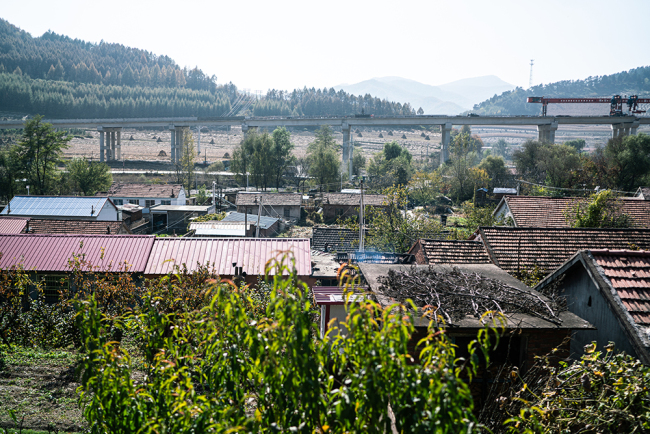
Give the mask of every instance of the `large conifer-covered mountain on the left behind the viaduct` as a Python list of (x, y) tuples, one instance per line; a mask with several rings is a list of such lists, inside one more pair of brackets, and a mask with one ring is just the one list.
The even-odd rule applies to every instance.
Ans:
[(334, 89), (271, 90), (254, 105), (236, 104), (241, 94), (235, 85), (219, 86), (216, 81), (198, 68), (180, 68), (167, 56), (53, 32), (34, 38), (0, 19), (0, 111), (4, 112), (48, 118), (414, 113), (408, 103)]

